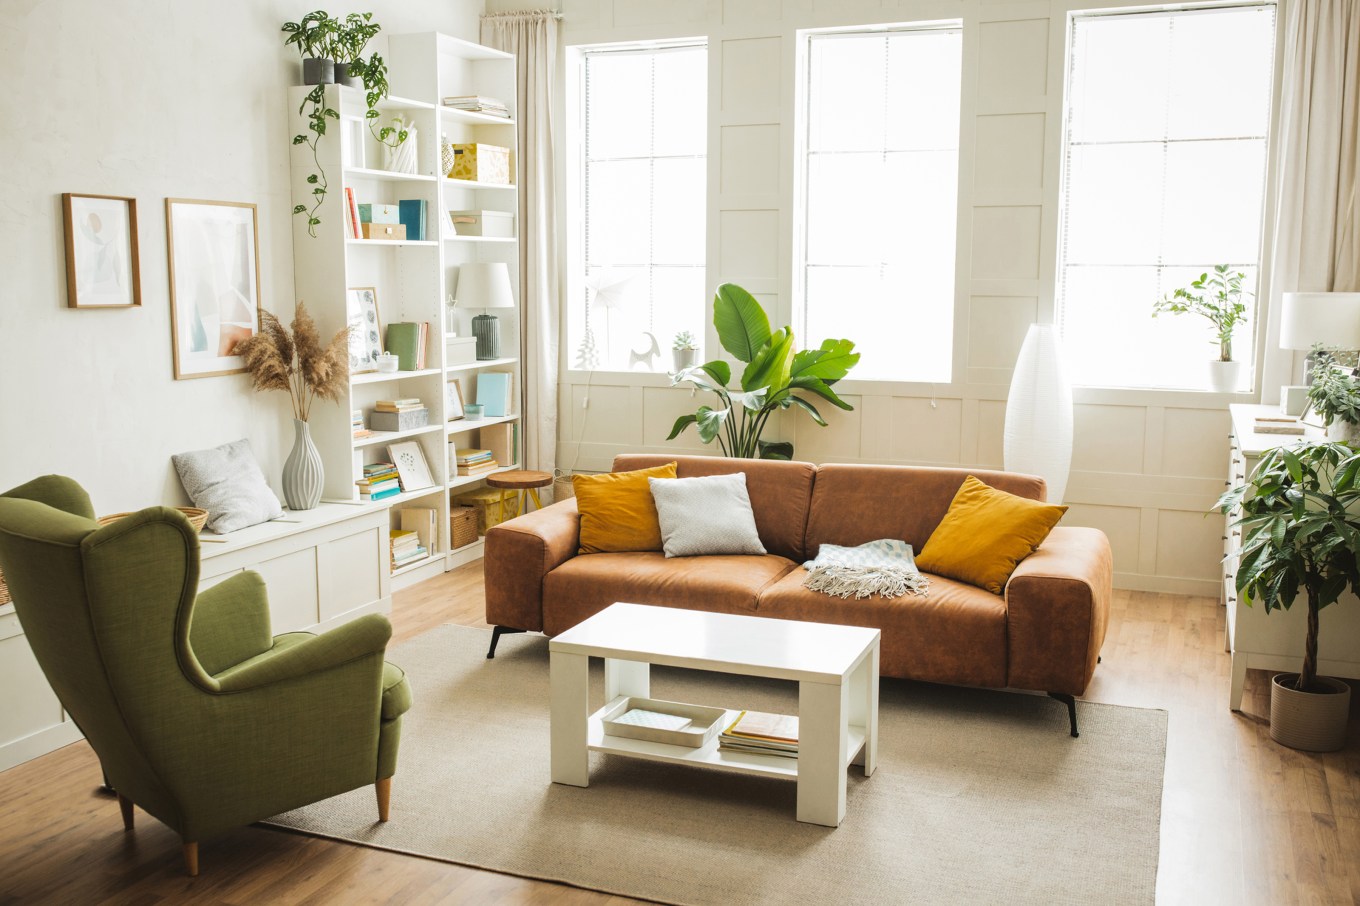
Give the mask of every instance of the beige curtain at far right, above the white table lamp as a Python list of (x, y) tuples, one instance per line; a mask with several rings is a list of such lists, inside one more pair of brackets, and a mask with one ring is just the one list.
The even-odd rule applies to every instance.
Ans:
[(1291, 382), (1278, 301), (1360, 291), (1360, 0), (1285, 5), (1265, 397)]

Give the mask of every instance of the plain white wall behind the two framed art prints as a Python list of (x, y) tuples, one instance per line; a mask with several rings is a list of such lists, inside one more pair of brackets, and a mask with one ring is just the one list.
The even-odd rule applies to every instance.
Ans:
[[(328, 4), (389, 34), (477, 38), (480, 0)], [(165, 199), (258, 205), (262, 305), (291, 317), (283, 22), (303, 0), (5, 0), (0, 29), (0, 488), (71, 475), (99, 513), (188, 503), (173, 453), (250, 439), (275, 490), (286, 397), (175, 381)], [(385, 35), (375, 46), (385, 49)], [(133, 196), (141, 307), (67, 307), (61, 193)]]

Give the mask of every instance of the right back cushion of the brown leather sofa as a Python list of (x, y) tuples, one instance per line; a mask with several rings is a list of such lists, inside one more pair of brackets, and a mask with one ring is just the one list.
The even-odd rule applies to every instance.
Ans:
[(855, 547), (895, 537), (910, 544), (919, 560), (926, 540), (970, 475), (1017, 497), (1042, 501), (1044, 495), (1043, 479), (1035, 475), (914, 465), (823, 465), (808, 513), (806, 559), (815, 558), (823, 544)]

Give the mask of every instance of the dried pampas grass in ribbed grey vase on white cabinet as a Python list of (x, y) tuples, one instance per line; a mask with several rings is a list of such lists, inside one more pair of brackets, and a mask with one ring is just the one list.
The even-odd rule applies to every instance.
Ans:
[(287, 390), (292, 403), (292, 453), (283, 464), (283, 499), (290, 510), (310, 510), (321, 502), (325, 472), (311, 442), (307, 418), (318, 399), (339, 403), (350, 386), (350, 329), (326, 346), (307, 306), (298, 302), (292, 329), (260, 310), (260, 331), (237, 344), (250, 384), (257, 390)]

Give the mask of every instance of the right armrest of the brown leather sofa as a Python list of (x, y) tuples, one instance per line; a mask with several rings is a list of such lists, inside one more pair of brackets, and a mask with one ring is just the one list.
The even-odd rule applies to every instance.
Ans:
[(1053, 529), (1006, 582), (1006, 684), (1081, 695), (1104, 643), (1112, 594), (1104, 532)]

